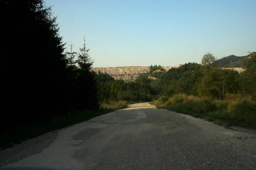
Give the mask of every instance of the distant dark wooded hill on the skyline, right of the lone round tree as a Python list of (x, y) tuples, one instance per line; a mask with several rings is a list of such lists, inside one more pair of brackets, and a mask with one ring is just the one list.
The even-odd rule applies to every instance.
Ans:
[(247, 56), (235, 56), (230, 55), (223, 57), (215, 61), (218, 67), (222, 68), (243, 68), (245, 67), (244, 63), (247, 61)]

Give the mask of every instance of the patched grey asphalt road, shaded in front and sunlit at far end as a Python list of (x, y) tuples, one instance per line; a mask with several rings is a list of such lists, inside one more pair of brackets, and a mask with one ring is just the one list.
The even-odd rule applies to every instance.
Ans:
[(0, 166), (256, 170), (256, 131), (137, 103), (3, 150)]

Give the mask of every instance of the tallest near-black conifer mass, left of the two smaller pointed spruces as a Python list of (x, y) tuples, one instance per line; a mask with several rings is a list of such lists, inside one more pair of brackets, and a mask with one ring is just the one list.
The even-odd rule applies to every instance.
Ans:
[(2, 0), (0, 11), (5, 16), (1, 20), (1, 120), (12, 119), (6, 128), (41, 122), (65, 111), (65, 44), (51, 7), (44, 0)]

